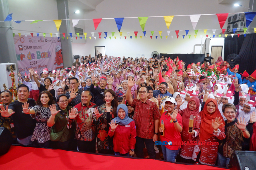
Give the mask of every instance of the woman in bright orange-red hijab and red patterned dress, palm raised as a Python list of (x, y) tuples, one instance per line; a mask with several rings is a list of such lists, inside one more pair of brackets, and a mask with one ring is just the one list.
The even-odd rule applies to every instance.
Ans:
[[(195, 145), (192, 159), (196, 161), (196, 156), (201, 151), (199, 162), (201, 164), (215, 165), (218, 155), (218, 140), (225, 139), (225, 122), (217, 107), (215, 99), (208, 99), (205, 95), (202, 111), (200, 111), (201, 124), (199, 132), (199, 142), (212, 145)], [(200, 144), (199, 143), (199, 144)]]

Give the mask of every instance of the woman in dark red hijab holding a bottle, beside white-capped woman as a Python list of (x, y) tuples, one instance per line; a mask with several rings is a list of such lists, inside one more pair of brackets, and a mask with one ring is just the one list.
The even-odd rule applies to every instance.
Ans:
[[(179, 98), (178, 105), (182, 104), (182, 98)], [(181, 138), (185, 143), (199, 141), (199, 129), (201, 123), (201, 116), (199, 111), (200, 102), (198, 97), (190, 98), (186, 109), (180, 110), (179, 113), (182, 117), (182, 132)], [(193, 118), (193, 127), (192, 131), (189, 131), (189, 120), (190, 117)], [(192, 160), (192, 154), (194, 150), (194, 145), (182, 145), (180, 149), (180, 156), (177, 158), (177, 162), (184, 163), (195, 163)]]

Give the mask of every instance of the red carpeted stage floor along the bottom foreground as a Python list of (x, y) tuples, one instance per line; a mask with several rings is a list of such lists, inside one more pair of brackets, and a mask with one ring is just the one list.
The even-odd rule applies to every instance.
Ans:
[(1, 170), (224, 170), (152, 159), (131, 159), (65, 150), (12, 146), (0, 156)]

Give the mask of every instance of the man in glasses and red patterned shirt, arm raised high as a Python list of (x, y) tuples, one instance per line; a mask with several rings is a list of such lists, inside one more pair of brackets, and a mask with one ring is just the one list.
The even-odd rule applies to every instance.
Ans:
[(154, 142), (158, 140), (158, 125), (161, 117), (157, 105), (148, 100), (148, 88), (141, 86), (138, 99), (131, 98), (131, 90), (135, 82), (133, 78), (128, 78), (128, 90), (126, 100), (128, 104), (134, 107), (134, 121), (136, 125), (136, 144), (135, 153), (137, 157), (144, 158), (143, 149), (146, 144), (150, 158), (156, 158)]

